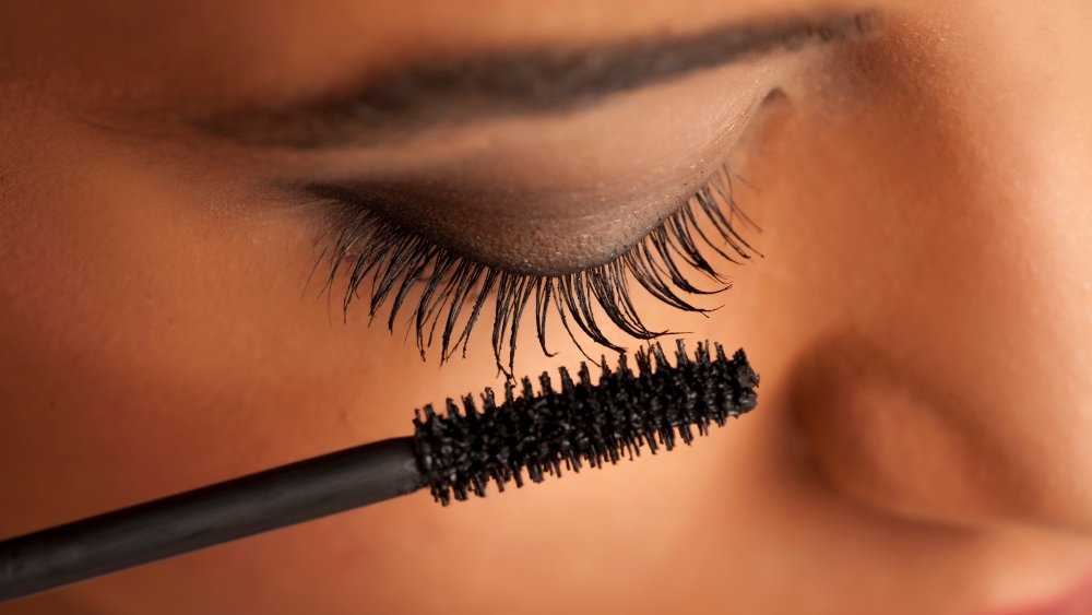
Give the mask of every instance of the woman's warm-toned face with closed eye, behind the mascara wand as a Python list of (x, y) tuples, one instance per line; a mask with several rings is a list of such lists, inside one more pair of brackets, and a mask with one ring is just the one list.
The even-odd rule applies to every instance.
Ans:
[(692, 449), (0, 611), (1092, 612), (1090, 58), (1087, 0), (0, 1), (0, 535), (502, 382), (488, 301), (442, 366), (420, 285), (343, 312), (360, 211), (557, 279), (731, 180), (723, 307), (632, 300), (762, 376)]

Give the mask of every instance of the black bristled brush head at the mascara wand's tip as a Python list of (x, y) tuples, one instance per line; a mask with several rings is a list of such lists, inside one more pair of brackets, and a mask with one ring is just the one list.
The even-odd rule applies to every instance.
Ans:
[(562, 469), (579, 472), (632, 459), (642, 447), (653, 453), (660, 445), (672, 450), (676, 438), (689, 445), (691, 427), (707, 435), (711, 423), (723, 426), (758, 402), (759, 378), (743, 350), (728, 359), (720, 344), (713, 348), (711, 357), (709, 344), (699, 343), (691, 358), (679, 341), (673, 366), (652, 344), (634, 354), (637, 371), (625, 355), (613, 371), (604, 360), (597, 385), (585, 364), (575, 382), (562, 367), (560, 390), (544, 372), (537, 393), (529, 378), (521, 381), (519, 397), (506, 385), (499, 406), (486, 389), (482, 412), (471, 397), (463, 398), (463, 412), (449, 400), (447, 416), (426, 405), (414, 418), (414, 440), (432, 497), (447, 506), (471, 493), (484, 496), (490, 480), (503, 490), (508, 482), (523, 486), (523, 472), (538, 483)]

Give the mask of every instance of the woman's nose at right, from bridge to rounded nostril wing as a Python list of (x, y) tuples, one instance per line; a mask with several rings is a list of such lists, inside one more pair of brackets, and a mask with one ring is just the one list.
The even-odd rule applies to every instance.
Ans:
[(1092, 4), (1017, 4), (892, 15), (816, 85), (791, 404), (858, 499), (1092, 531)]

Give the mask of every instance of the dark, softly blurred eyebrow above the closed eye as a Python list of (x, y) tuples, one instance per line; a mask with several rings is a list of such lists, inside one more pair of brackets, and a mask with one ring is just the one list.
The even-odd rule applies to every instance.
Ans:
[(873, 13), (840, 13), (589, 47), (529, 47), (437, 56), (391, 67), (346, 93), (204, 118), (197, 127), (248, 145), (299, 150), (375, 146), (512, 116), (560, 115), (603, 99), (775, 49), (858, 38)]

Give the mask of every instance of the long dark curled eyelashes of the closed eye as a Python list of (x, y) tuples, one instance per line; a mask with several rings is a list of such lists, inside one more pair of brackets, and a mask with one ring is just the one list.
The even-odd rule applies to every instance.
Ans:
[[(676, 309), (707, 312), (710, 310), (695, 306), (682, 295), (715, 294), (732, 284), (712, 267), (703, 248), (734, 263), (740, 262), (737, 258), (749, 259), (751, 253), (758, 253), (733, 227), (733, 221), (738, 218), (758, 228), (736, 205), (727, 168), (714, 175), (678, 211), (627, 252), (605, 264), (559, 275), (513, 273), (476, 263), (370, 210), (340, 201), (333, 204), (333, 217), (319, 239), (320, 243), (325, 240), (327, 246), (316, 268), (329, 260), (325, 293), (331, 293), (342, 272), (348, 270), (343, 312), (361, 299), (360, 287), (370, 280), (369, 315), (375, 318), (383, 305), (391, 301), (387, 327), (393, 332), (411, 291), (424, 283), (411, 324), (422, 358), (439, 332), (440, 362), (443, 363), (460, 347), (465, 356), (470, 332), (478, 322), (488, 297), (494, 296), (492, 352), (497, 367), (509, 376), (515, 362), (520, 322), (532, 299), (538, 343), (547, 356), (554, 354), (546, 346), (546, 320), (551, 306), (569, 338), (585, 356), (587, 353), (577, 339), (574, 327), (592, 341), (620, 352), (625, 348), (602, 330), (596, 308), (630, 336), (651, 340), (670, 333), (644, 324), (631, 300), (631, 282)], [(727, 215), (722, 205), (727, 206)], [(714, 238), (707, 229), (715, 233)], [(719, 247), (714, 243), (716, 239), (727, 249)], [(680, 268), (680, 263), (685, 267)], [(699, 272), (716, 287), (708, 291), (696, 286), (685, 268)], [(466, 309), (470, 314), (460, 322)]]

